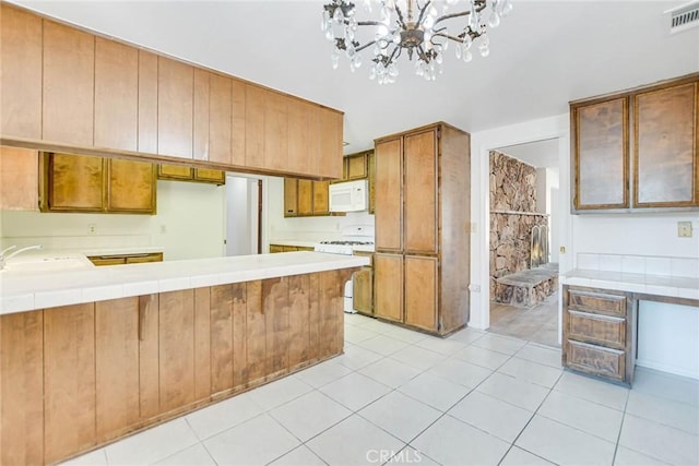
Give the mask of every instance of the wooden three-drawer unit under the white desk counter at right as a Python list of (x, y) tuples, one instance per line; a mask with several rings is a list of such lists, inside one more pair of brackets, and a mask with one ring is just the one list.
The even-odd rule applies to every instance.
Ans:
[(630, 385), (636, 365), (632, 296), (564, 285), (562, 366)]

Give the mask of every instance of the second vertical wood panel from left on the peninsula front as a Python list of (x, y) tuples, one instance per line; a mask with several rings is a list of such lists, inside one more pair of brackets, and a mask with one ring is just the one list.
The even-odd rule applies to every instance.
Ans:
[(45, 463), (95, 444), (95, 303), (45, 310)]

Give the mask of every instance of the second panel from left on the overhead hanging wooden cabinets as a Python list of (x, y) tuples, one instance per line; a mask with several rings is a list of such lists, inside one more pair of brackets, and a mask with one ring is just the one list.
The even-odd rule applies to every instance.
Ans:
[(44, 21), (42, 139), (94, 143), (95, 36)]

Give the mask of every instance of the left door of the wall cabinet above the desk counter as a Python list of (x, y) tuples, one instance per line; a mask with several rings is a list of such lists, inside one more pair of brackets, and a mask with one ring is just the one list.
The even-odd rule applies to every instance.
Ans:
[(629, 206), (628, 99), (573, 109), (573, 206)]

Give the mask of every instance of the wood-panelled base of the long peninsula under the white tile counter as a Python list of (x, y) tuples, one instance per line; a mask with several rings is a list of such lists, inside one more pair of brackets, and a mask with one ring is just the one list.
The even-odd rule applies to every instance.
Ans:
[(1, 315), (0, 464), (58, 463), (341, 354), (353, 272)]

